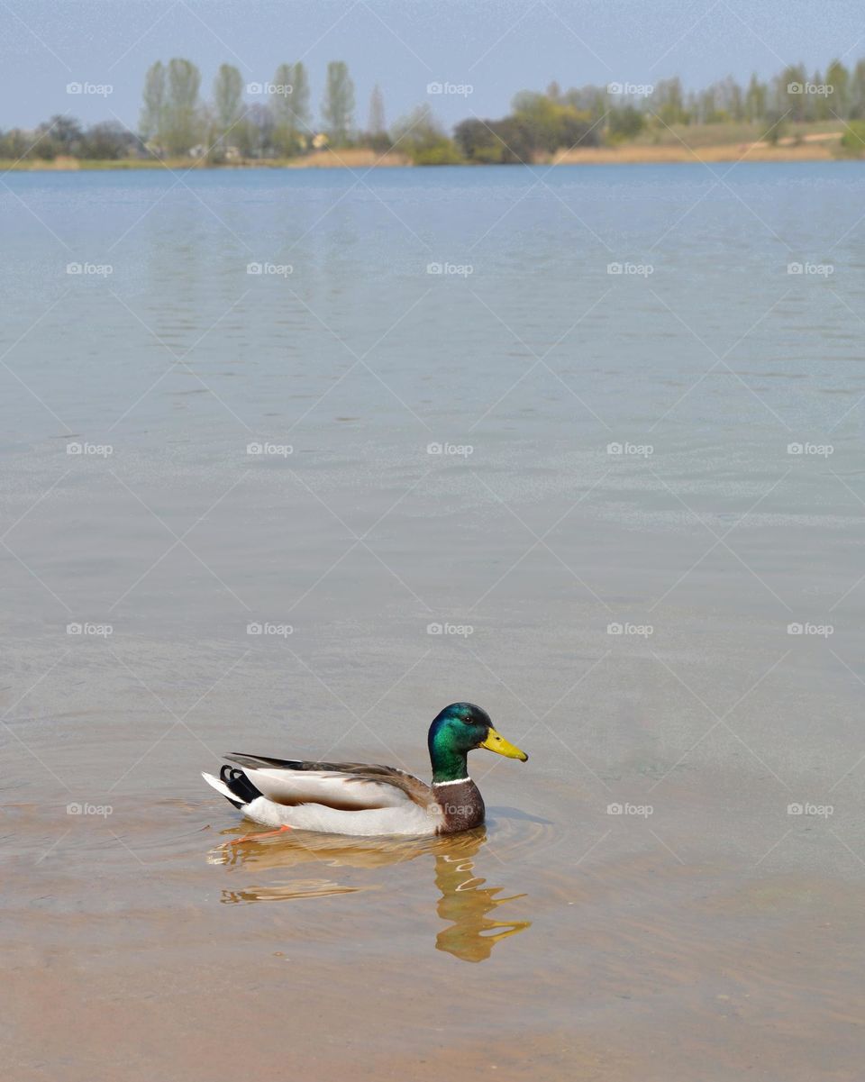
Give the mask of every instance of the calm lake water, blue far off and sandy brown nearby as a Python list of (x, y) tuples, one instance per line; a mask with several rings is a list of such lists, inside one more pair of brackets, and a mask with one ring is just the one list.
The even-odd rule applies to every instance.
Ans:
[[(3, 183), (15, 1079), (860, 1078), (865, 167)], [(226, 845), (455, 699), (480, 833)]]

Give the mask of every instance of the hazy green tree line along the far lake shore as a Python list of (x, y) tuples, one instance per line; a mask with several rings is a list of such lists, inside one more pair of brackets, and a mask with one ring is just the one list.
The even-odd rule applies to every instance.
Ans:
[(728, 77), (702, 91), (683, 90), (678, 78), (654, 87), (565, 91), (551, 83), (543, 93), (519, 93), (508, 116), (472, 117), (457, 124), (453, 135), (427, 104), (389, 129), (378, 87), (366, 128), (358, 129), (349, 68), (333, 61), (327, 66), (318, 116), (316, 128), (302, 63), (280, 64), (270, 83), (245, 83), (236, 67), (223, 64), (205, 101), (199, 69), (175, 57), (148, 69), (137, 132), (117, 121), (82, 128), (67, 116), (54, 116), (36, 131), (0, 131), (0, 158), (193, 157), (219, 163), (364, 146), (380, 154), (395, 149), (418, 164), (509, 163), (536, 161), (577, 145), (657, 138), (666, 128), (679, 126), (751, 124), (774, 141), (788, 123), (836, 120), (850, 126), (856, 138), (848, 131), (846, 141), (857, 149), (859, 138), (865, 140), (865, 60), (851, 68), (835, 60), (825, 72), (811, 75), (804, 65), (790, 65), (768, 81), (751, 76), (746, 85)]

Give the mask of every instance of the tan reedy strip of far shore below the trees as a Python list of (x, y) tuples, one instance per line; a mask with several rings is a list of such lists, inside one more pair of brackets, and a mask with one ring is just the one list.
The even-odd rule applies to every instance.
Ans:
[[(777, 143), (743, 142), (687, 146), (684, 143), (640, 144), (580, 147), (563, 150), (538, 159), (535, 164), (549, 166), (638, 166), (673, 164), (677, 162), (736, 161), (855, 161), (841, 153), (841, 132), (813, 133), (799, 138), (783, 138)], [(472, 163), (473, 168), (483, 164)], [(89, 170), (168, 169), (381, 169), (412, 167), (410, 159), (398, 151), (379, 154), (368, 147), (346, 147), (316, 150), (297, 158), (246, 158), (212, 162), (191, 158), (122, 158), (93, 160), (64, 158), (53, 160), (30, 158), (0, 161), (2, 172), (75, 172)]]

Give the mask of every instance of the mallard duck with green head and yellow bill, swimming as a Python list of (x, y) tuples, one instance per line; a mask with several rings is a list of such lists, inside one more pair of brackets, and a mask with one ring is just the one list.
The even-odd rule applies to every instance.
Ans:
[[(266, 755), (226, 755), (219, 778), (201, 777), (244, 815), (264, 827), (328, 834), (455, 834), (484, 821), (484, 801), (466, 756), (486, 748), (528, 758), (494, 728), (486, 711), (451, 702), (430, 726), (432, 784), (393, 766), (310, 763)], [(255, 835), (264, 836), (263, 834)]]

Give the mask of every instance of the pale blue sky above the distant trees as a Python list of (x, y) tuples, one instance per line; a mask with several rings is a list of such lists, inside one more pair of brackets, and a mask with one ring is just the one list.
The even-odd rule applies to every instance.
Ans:
[[(865, 55), (860, 0), (3, 0), (0, 128), (53, 113), (134, 127), (141, 85), (158, 58), (187, 56), (209, 93), (220, 63), (249, 82), (303, 57), (317, 109), (327, 62), (349, 64), (364, 124), (372, 85), (389, 123), (429, 101), (447, 124), (501, 116), (521, 89), (679, 75), (702, 87), (785, 63), (809, 71), (835, 55)], [(69, 82), (107, 96), (66, 93)], [(470, 84), (469, 97), (428, 97), (433, 81)]]

